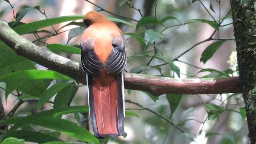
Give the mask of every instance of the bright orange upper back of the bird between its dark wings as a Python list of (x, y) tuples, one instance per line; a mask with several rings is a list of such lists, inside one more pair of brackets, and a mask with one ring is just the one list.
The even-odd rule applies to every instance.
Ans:
[(122, 34), (112, 22), (92, 24), (84, 31), (82, 38), (94, 40), (94, 51), (102, 63), (105, 63), (112, 50), (111, 38)]

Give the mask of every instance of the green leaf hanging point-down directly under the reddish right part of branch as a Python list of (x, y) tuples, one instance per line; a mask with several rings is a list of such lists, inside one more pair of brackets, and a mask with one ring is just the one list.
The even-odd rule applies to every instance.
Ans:
[(172, 114), (180, 104), (180, 100), (182, 98), (182, 94), (166, 94), (166, 98), (168, 100), (170, 109), (171, 109), (171, 114), (170, 118), (172, 118)]

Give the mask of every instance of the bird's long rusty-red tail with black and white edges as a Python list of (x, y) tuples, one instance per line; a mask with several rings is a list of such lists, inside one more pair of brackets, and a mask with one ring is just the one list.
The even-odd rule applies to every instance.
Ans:
[(87, 76), (90, 119), (98, 138), (124, 134), (124, 80), (117, 75)]

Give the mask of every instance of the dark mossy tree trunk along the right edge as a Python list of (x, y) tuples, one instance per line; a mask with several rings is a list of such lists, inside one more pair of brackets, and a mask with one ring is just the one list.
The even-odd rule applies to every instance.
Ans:
[(234, 36), (249, 138), (256, 143), (256, 1), (231, 0)]

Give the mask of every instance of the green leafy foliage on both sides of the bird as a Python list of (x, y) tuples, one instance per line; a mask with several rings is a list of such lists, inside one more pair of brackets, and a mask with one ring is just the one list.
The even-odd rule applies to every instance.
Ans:
[[(5, 1), (10, 4), (8, 0)], [(130, 4), (130, 2), (131, 0), (124, 0), (120, 2), (119, 6), (128, 5), (130, 6), (130, 8), (134, 8), (134, 6)], [(200, 2), (202, 4), (201, 0), (192, 0), (192, 3), (194, 2)], [(11, 4), (10, 6), (13, 8)], [(202, 4), (202, 6), (204, 6), (204, 4)], [(140, 10), (136, 8), (134, 9), (138, 10), (142, 17), (140, 20), (133, 20), (137, 22), (136, 26), (125, 20), (108, 17), (112, 21), (120, 22), (122, 24), (125, 24), (129, 28), (132, 28), (134, 32), (124, 33), (124, 35), (127, 36), (126, 42), (135, 38), (136, 41), (141, 44), (143, 48), (141, 52), (138, 53), (134, 51), (134, 54), (128, 56), (128, 61), (140, 58), (145, 60), (146, 63), (139, 66), (132, 66), (131, 64), (132, 68), (130, 69), (130, 72), (148, 74), (149, 71), (154, 71), (158, 73), (159, 76), (180, 78), (182, 73), (180, 72), (181, 67), (180, 65), (178, 65), (179, 62), (188, 64), (186, 62), (182, 62), (180, 60), (180, 57), (184, 56), (185, 54), (190, 52), (190, 50), (194, 49), (200, 44), (203, 44), (205, 42), (212, 42), (204, 49), (200, 58), (200, 62), (203, 62), (204, 64), (208, 62), (212, 58), (212, 56), (214, 56), (216, 51), (222, 46), (222, 44), (224, 44), (228, 40), (233, 39), (219, 38), (219, 36), (215, 36), (216, 33), (221, 31), (221, 28), (223, 27), (222, 22), (231, 18), (229, 12), (227, 12), (226, 16), (219, 17), (218, 20), (215, 20), (211, 13), (208, 11), (208, 8), (206, 8), (205, 6), (204, 8), (207, 11), (207, 14), (210, 15), (212, 20), (196, 18), (181, 22), (182, 20), (179, 20), (179, 18), (176, 18), (174, 16), (164, 16), (163, 18), (158, 18), (156, 17), (156, 15), (143, 17), (140, 13)], [(209, 8), (214, 13), (217, 11), (216, 9), (214, 9), (212, 1), (210, 1)], [(31, 10), (38, 10), (46, 17), (46, 19), (30, 22), (27, 24), (22, 23), (21, 20)], [(40, 43), (41, 45), (46, 46), (49, 50), (57, 54), (64, 53), (69, 56), (71, 56), (72, 54), (81, 54), (79, 48), (80, 45), (76, 44), (72, 46), (70, 44), (70, 40), (79, 37), (86, 29), (86, 26), (82, 22), (76, 21), (81, 20), (83, 18), (83, 15), (47, 18), (45, 12), (41, 11), (40, 6), (26, 7), (18, 11), (16, 14), (13, 13), (13, 15), (16, 20), (13, 22), (9, 22), (9, 26), (11, 26), (13, 30), (15, 30), (18, 34), (31, 34), (36, 38), (36, 40), (32, 42)], [(58, 29), (54, 27), (54, 25), (63, 22), (68, 23)], [(198, 22), (208, 24), (214, 29), (214, 32), (209, 38), (194, 44), (193, 46), (191, 46), (187, 50), (184, 50), (184, 52), (174, 58), (172, 58), (172, 56), (169, 56), (168, 54), (165, 54), (163, 48), (161, 48), (160, 44), (158, 44), (161, 42), (161, 40), (171, 35), (172, 32), (182, 26), (188, 24), (195, 24)], [(227, 24), (226, 26), (228, 25), (230, 24)], [(53, 30), (50, 31), (46, 29), (46, 27), (48, 26), (52, 26)], [(64, 30), (68, 26), (76, 27), (69, 30)], [(47, 44), (48, 38), (59, 35), (66, 31), (68, 31), (68, 38), (65, 42), (66, 44)], [(84, 117), (82, 115), (84, 113), (88, 113), (88, 107), (70, 106), (71, 102), (75, 98), (78, 88), (82, 85), (76, 84), (76, 82), (74, 82), (72, 78), (64, 76), (58, 72), (54, 72), (51, 70), (38, 70), (34, 62), (21, 56), (17, 56), (2, 41), (0, 42), (0, 51), (0, 82), (4, 82), (6, 84), (5, 88), (2, 88), (2, 86), (1, 88), (5, 90), (6, 100), (8, 96), (10, 96), (10, 94), (16, 96), (18, 100), (18, 103), (16, 106), (14, 106), (12, 112), (10, 112), (0, 122), (1, 126), (11, 126), (0, 137), (0, 139), (2, 140), (2, 144), (24, 144), (24, 141), (38, 142), (43, 144), (68, 144), (69, 142), (63, 142), (59, 139), (60, 134), (70, 136), (70, 138), (73, 138), (75, 140), (100, 143), (100, 141), (95, 138), (93, 134), (86, 130), (86, 128), (82, 127), (82, 118), (86, 118), (86, 116)], [(154, 61), (157, 61), (158, 64), (152, 64)], [(194, 68), (198, 68), (197, 66), (193, 66), (192, 64), (188, 65)], [(166, 70), (164, 66), (165, 68), (167, 67), (168, 70)], [(200, 70), (192, 77), (196, 77), (196, 75), (202, 72), (208, 72), (208, 74), (205, 76), (201, 76), (200, 78), (223, 78), (231, 77), (233, 76), (233, 74), (236, 74), (236, 71), (232, 69), (228, 69), (225, 71), (220, 71), (213, 68), (199, 69)], [(127, 91), (130, 95), (131, 90)], [(159, 101), (158, 97), (153, 96), (148, 92), (144, 92), (143, 94), (146, 94), (148, 98), (150, 98), (154, 103), (157, 103)], [(171, 124), (173, 128), (181, 133), (179, 138), (183, 138), (185, 136), (186, 140), (196, 141), (196, 137), (194, 137), (193, 134), (190, 134), (189, 132), (183, 130), (184, 123), (190, 119), (179, 122), (179, 124), (175, 124), (174, 122), (172, 122), (172, 120), (174, 120), (172, 119), (175, 115), (174, 112), (175, 110), (179, 109), (179, 104), (182, 102), (182, 98), (184, 96), (179, 94), (166, 94), (164, 96), (166, 97), (168, 107), (170, 109), (170, 113), (168, 113), (168, 116), (163, 116), (164, 112), (161, 108), (159, 108), (159, 112), (154, 112), (154, 110), (146, 108), (139, 103), (132, 102), (130, 100), (127, 100), (127, 102), (140, 107), (140, 110), (148, 110), (149, 112), (152, 112), (152, 114), (158, 116), (159, 121), (164, 120), (164, 122), (168, 122), (168, 124)], [(204, 101), (198, 95), (198, 98), (202, 100), (205, 111), (207, 112), (205, 121), (199, 121), (200, 123), (202, 123), (202, 128), (198, 135), (202, 134), (204, 123), (206, 123), (207, 120), (215, 122), (214, 120), (218, 119), (223, 112), (235, 112), (240, 114), (242, 119), (246, 118), (244, 108), (239, 106), (228, 108), (231, 99), (235, 99), (237, 102), (241, 100), (238, 94), (230, 94), (224, 100), (222, 100), (221, 95), (220, 97), (221, 99), (219, 101), (221, 102), (221, 104), (216, 105), (213, 103), (204, 103)], [(54, 101), (52, 101), (52, 98), (54, 98)], [(217, 98), (214, 99), (217, 100)], [(34, 100), (36, 100), (37, 102), (38, 112), (34, 114), (27, 113), (27, 116), (13, 115), (21, 104), (23, 104), (24, 102), (32, 102)], [(50, 105), (52, 109), (44, 110), (46, 104)], [(237, 111), (236, 108), (239, 108), (239, 111)], [(72, 120), (62, 118), (62, 115), (71, 117)], [(126, 111), (126, 115), (134, 116), (136, 118), (142, 117), (139, 114), (134, 113), (133, 111)], [(196, 119), (192, 120), (197, 121)], [(76, 121), (77, 123), (72, 121)], [(148, 123), (153, 122), (150, 122), (150, 120), (148, 120)], [(156, 125), (160, 124), (161, 122)], [(164, 131), (166, 129), (162, 128), (161, 130)], [(236, 143), (236, 140), (228, 134), (208, 132), (205, 134), (205, 137), (207, 138), (213, 135), (221, 135), (224, 138), (228, 139), (231, 143)], [(167, 136), (168, 134), (166, 135), (166, 137)], [(82, 142), (80, 143), (82, 144)], [(77, 142), (74, 144), (80, 143)]]

